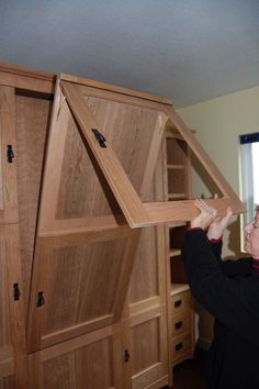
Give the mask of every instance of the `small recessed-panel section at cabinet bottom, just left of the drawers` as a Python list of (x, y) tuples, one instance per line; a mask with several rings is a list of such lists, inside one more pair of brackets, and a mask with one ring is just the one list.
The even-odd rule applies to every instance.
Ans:
[(166, 305), (130, 320), (132, 388), (161, 388), (168, 384)]

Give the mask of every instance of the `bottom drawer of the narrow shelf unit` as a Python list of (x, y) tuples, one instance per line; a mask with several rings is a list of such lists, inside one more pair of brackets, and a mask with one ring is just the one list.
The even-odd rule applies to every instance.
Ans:
[(172, 340), (172, 366), (192, 357), (192, 336), (183, 334)]

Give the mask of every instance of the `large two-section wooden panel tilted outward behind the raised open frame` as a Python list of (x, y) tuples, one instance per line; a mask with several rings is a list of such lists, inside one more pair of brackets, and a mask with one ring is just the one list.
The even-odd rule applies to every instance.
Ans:
[[(104, 152), (111, 153), (110, 143), (119, 156), (114, 166), (108, 157), (108, 170), (115, 176), (125, 170), (124, 179), (134, 185), (134, 194), (125, 187), (122, 198), (142, 197), (153, 180), (166, 115), (139, 99), (121, 103), (109, 91), (101, 98), (81, 92), (94, 127), (102, 126)], [(103, 147), (91, 135), (98, 155)], [(128, 226), (94, 153), (57, 86), (33, 268), (30, 351), (114, 323), (122, 313), (139, 231)], [(121, 175), (114, 181), (120, 192)]]

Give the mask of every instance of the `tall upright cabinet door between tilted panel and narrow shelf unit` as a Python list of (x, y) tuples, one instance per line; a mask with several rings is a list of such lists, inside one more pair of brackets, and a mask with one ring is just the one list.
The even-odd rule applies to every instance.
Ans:
[[(161, 201), (162, 158), (144, 200)], [(161, 388), (168, 384), (166, 297), (166, 236), (164, 226), (142, 231), (128, 291), (128, 351), (132, 388)]]

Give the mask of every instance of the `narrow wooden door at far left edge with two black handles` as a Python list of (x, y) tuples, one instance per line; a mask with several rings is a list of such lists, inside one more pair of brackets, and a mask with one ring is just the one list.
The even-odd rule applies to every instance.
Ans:
[[(0, 377), (27, 385), (15, 156), (15, 90), (0, 87)], [(5, 385), (5, 384), (4, 384)], [(9, 384), (7, 384), (9, 385)], [(10, 384), (12, 385), (12, 384)]]

